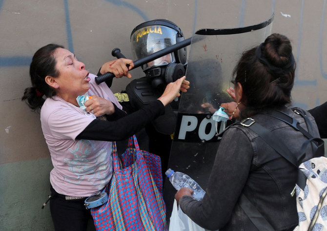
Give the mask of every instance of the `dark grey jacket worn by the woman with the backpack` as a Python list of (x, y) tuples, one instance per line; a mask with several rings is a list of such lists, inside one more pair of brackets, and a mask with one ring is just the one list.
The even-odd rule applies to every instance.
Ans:
[[(307, 130), (302, 116), (291, 109), (282, 111), (299, 120)], [(313, 117), (302, 111), (312, 123), (312, 135), (319, 137)], [(252, 118), (283, 140), (294, 153), (307, 140), (283, 121), (263, 114)], [(310, 150), (305, 159), (311, 157)], [(236, 123), (223, 134), (203, 200), (183, 196), (180, 207), (193, 221), (208, 230), (257, 230), (238, 204), (241, 193), (244, 193), (275, 230), (292, 230), (298, 224), (295, 196), (290, 195), (296, 177), (296, 168), (292, 164), (252, 130)]]

